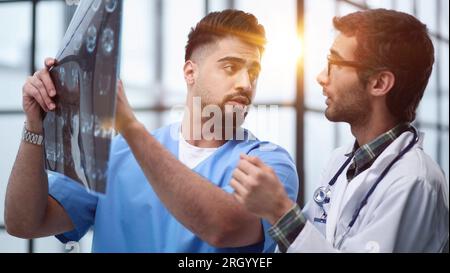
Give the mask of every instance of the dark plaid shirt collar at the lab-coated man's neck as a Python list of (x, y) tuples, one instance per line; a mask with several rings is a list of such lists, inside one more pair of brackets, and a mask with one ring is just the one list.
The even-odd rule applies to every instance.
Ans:
[(353, 146), (351, 153), (346, 156), (354, 155), (352, 164), (347, 170), (347, 180), (351, 181), (358, 174), (367, 170), (377, 157), (386, 149), (397, 137), (409, 130), (411, 125), (409, 123), (401, 123), (386, 133), (380, 135), (372, 142), (359, 147), (357, 141)]

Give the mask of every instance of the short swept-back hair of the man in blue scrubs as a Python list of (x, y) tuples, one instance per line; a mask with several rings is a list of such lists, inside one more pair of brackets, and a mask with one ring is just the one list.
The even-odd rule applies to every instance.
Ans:
[(195, 28), (191, 28), (186, 44), (185, 61), (191, 58), (195, 49), (229, 36), (258, 47), (261, 54), (264, 52), (266, 33), (264, 27), (258, 23), (258, 19), (250, 13), (227, 9), (209, 13)]

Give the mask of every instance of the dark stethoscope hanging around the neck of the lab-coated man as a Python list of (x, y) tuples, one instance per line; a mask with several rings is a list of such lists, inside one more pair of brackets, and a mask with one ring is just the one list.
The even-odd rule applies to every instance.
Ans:
[[(355, 210), (355, 213), (353, 213), (352, 220), (347, 226), (347, 230), (342, 235), (341, 239), (339, 240), (337, 244), (337, 248), (340, 249), (342, 243), (344, 242), (345, 237), (350, 232), (350, 229), (355, 224), (356, 220), (358, 219), (359, 213), (361, 212), (362, 208), (367, 204), (367, 200), (372, 195), (372, 193), (375, 191), (375, 188), (378, 186), (378, 184), (383, 180), (383, 178), (388, 173), (389, 169), (400, 159), (402, 158), (408, 151), (410, 151), (414, 145), (419, 142), (419, 134), (417, 133), (417, 130), (414, 127), (410, 127), (408, 131), (411, 131), (414, 134), (413, 139), (411, 142), (406, 146), (403, 150), (400, 151), (400, 153), (389, 163), (389, 165), (383, 170), (381, 175), (378, 177), (378, 179), (375, 181), (375, 183), (372, 185), (370, 190), (367, 192), (364, 199), (359, 204), (359, 207)], [(316, 204), (322, 208), (323, 215), (320, 218), (314, 218), (314, 222), (320, 222), (320, 223), (326, 223), (327, 219), (327, 213), (325, 211), (324, 205), (330, 202), (331, 198), (331, 187), (336, 183), (339, 176), (342, 174), (342, 172), (345, 170), (345, 168), (350, 164), (352, 161), (353, 156), (349, 156), (348, 159), (344, 162), (344, 164), (339, 168), (339, 170), (336, 172), (336, 174), (331, 178), (330, 182), (328, 182), (328, 185), (319, 187), (315, 192), (313, 199), (316, 202)]]

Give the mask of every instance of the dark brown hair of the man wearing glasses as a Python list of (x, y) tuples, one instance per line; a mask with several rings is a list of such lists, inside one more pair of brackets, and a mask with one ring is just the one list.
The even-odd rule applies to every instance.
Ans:
[(376, 69), (395, 75), (387, 96), (389, 111), (399, 121), (412, 122), (434, 64), (434, 47), (427, 26), (414, 16), (386, 9), (358, 11), (333, 19), (346, 36), (356, 36), (356, 60), (374, 70), (359, 70), (363, 83)]

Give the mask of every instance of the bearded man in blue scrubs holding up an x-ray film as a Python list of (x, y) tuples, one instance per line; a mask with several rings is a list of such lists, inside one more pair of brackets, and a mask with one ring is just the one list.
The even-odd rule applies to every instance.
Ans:
[[(106, 195), (60, 174), (47, 176), (42, 146), (22, 141), (7, 190), (8, 232), (68, 242), (92, 227), (94, 252), (273, 251), (269, 223), (242, 206), (229, 186), (246, 154), (259, 157), (288, 196), (297, 197), (289, 154), (240, 127), (255, 96), (264, 44), (264, 28), (251, 14), (226, 10), (203, 18), (186, 45), (183, 121), (152, 133), (135, 118), (119, 83), (120, 135), (111, 147)], [(53, 63), (48, 59), (23, 88), (25, 129), (33, 134), (42, 134), (41, 109), (54, 109)]]

